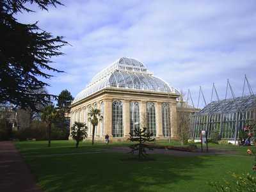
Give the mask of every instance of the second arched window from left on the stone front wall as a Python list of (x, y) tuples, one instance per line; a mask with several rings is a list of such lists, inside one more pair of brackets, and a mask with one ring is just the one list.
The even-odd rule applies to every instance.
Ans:
[(130, 103), (130, 132), (140, 128), (140, 106), (138, 102)]

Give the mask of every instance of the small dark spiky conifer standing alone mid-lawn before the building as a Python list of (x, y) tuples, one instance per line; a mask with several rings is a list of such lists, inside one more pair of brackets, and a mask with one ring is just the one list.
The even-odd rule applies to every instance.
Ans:
[(134, 134), (129, 132), (130, 138), (128, 140), (132, 142), (138, 142), (136, 144), (133, 144), (130, 146), (132, 154), (134, 152), (138, 151), (138, 157), (139, 159), (146, 158), (147, 157), (147, 152), (146, 148), (149, 150), (153, 150), (153, 148), (149, 147), (148, 145), (145, 144), (145, 142), (151, 142), (151, 141), (156, 141), (155, 138), (152, 138), (153, 133), (148, 132), (146, 127), (143, 127), (143, 129), (134, 129)]

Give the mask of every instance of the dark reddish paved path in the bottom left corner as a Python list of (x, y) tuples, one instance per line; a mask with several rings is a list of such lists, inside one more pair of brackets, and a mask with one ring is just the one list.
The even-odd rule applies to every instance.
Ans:
[(14, 144), (0, 142), (0, 191), (41, 192)]

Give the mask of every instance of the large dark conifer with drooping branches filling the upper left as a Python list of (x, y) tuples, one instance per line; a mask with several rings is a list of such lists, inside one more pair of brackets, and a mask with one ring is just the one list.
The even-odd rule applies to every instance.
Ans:
[(38, 93), (49, 84), (45, 79), (52, 72), (51, 58), (60, 56), (66, 45), (62, 36), (52, 36), (35, 24), (23, 24), (15, 19), (17, 13), (32, 12), (28, 4), (42, 10), (61, 4), (56, 0), (0, 0), (0, 103), (10, 102), (20, 108), (38, 111), (38, 104), (49, 102), (55, 95)]

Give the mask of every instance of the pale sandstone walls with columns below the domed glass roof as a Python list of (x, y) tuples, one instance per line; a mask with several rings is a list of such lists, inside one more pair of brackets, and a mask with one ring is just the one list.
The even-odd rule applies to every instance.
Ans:
[[(130, 102), (138, 102), (140, 107), (140, 127), (147, 127), (147, 102), (153, 102), (156, 108), (156, 138), (164, 139), (169, 136), (163, 136), (163, 121), (162, 121), (162, 104), (168, 103), (170, 108), (170, 130), (171, 137), (177, 139), (177, 97), (179, 95), (173, 93), (161, 92), (138, 92), (135, 90), (120, 90), (115, 88), (107, 88), (101, 92), (90, 95), (79, 102), (71, 105), (70, 110), (70, 127), (77, 122), (84, 122), (88, 126), (88, 139), (92, 138), (92, 125), (88, 122), (88, 111), (90, 107), (97, 104), (100, 109), (102, 102), (104, 103), (103, 118), (99, 121), (97, 130), (95, 131), (95, 140), (104, 140), (106, 134), (110, 140), (127, 140), (130, 132)], [(123, 137), (113, 137), (113, 102), (119, 100), (123, 103)], [(101, 110), (101, 109), (100, 109)]]

